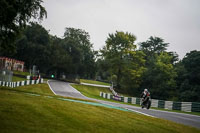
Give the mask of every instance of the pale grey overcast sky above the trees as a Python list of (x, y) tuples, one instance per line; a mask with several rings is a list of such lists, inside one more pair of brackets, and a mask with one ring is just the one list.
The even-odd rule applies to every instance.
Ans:
[(95, 50), (116, 30), (131, 32), (136, 43), (161, 37), (180, 58), (200, 50), (200, 0), (44, 0), (43, 6), (48, 16), (41, 24), (50, 34), (84, 29)]

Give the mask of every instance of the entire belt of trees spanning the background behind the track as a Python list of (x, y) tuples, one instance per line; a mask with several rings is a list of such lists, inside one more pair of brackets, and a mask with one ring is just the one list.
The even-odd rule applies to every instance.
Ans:
[(25, 61), (27, 70), (36, 65), (46, 76), (112, 82), (116, 91), (132, 96), (148, 88), (152, 98), (200, 102), (200, 51), (179, 60), (162, 38), (150, 37), (137, 45), (135, 40), (131, 33), (116, 31), (94, 51), (89, 33), (82, 29), (66, 28), (59, 38), (31, 23), (14, 41), (14, 52), (4, 50), (0, 56)]

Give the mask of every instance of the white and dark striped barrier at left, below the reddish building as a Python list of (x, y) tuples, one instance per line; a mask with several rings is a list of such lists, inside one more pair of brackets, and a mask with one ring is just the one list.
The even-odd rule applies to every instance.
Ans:
[(15, 88), (15, 87), (18, 87), (18, 86), (32, 85), (32, 84), (39, 84), (39, 83), (43, 83), (43, 79), (17, 81), (17, 82), (0, 81), (0, 86), (6, 86), (6, 87)]

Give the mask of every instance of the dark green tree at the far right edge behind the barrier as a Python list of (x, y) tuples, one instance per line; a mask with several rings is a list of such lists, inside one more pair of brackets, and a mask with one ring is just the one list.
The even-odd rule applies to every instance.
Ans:
[(177, 64), (179, 99), (200, 102), (200, 51), (191, 51)]

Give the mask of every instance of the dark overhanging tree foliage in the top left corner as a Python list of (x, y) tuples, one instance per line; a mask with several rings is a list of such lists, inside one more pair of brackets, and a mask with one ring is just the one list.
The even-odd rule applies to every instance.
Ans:
[(42, 20), (47, 15), (42, 0), (1, 0), (0, 1), (0, 53), (12, 55), (13, 42), (31, 18)]

